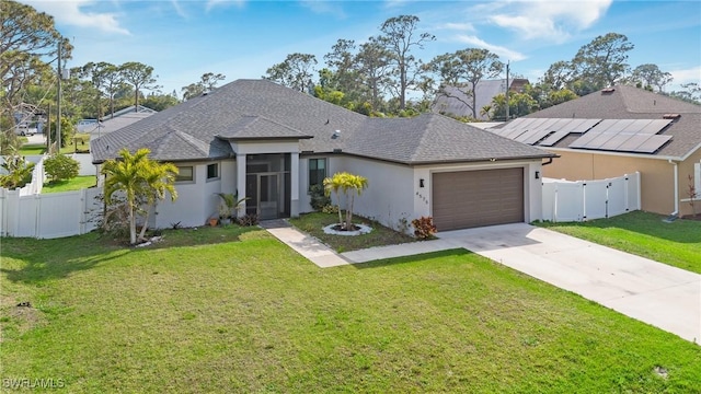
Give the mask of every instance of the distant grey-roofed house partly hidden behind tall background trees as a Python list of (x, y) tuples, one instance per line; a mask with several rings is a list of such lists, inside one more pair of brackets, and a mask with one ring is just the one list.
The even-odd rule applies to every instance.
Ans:
[[(508, 81), (509, 92), (520, 93), (524, 90), (524, 86), (528, 84), (527, 79), (515, 78)], [(469, 96), (464, 93), (467, 88), (455, 88), (448, 86), (445, 90), (445, 93), (439, 93), (436, 96), (436, 102), (434, 103), (432, 109), (434, 113), (444, 114), (456, 117), (472, 117), (472, 109), (468, 106), (468, 104), (472, 104), (472, 96)], [(482, 114), (482, 108), (485, 105), (492, 104), (492, 99), (494, 99), (499, 93), (506, 92), (506, 80), (486, 80), (478, 82), (474, 88), (474, 93), (476, 97), (476, 119), (478, 120), (490, 120), (490, 116), (487, 114)], [(466, 104), (468, 103), (468, 104)]]

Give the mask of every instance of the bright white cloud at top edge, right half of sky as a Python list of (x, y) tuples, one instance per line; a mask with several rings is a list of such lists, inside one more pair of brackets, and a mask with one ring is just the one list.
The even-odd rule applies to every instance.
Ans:
[(579, 32), (601, 19), (612, 0), (552, 1), (510, 3), (512, 12), (495, 13), (489, 20), (512, 28), (526, 39), (544, 38), (565, 42), (571, 32)]

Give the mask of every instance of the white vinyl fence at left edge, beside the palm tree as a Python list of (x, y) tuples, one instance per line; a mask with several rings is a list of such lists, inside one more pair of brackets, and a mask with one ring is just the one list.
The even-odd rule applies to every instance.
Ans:
[(0, 235), (55, 239), (94, 230), (102, 215), (101, 187), (22, 195), (0, 188)]

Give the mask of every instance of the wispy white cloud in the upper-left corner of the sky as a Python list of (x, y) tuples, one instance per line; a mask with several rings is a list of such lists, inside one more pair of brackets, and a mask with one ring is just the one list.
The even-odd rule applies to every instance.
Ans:
[(37, 11), (53, 15), (57, 23), (96, 28), (107, 33), (130, 34), (128, 30), (119, 25), (116, 14), (108, 12), (88, 12), (83, 10), (85, 7), (97, 3), (97, 1), (94, 0), (24, 0), (23, 2), (34, 7)]

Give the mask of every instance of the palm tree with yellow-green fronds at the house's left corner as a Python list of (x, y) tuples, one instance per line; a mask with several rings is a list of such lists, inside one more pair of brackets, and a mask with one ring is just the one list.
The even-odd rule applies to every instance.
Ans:
[[(129, 218), (129, 243), (136, 244), (136, 216), (141, 202), (148, 206), (171, 195), (171, 200), (177, 198), (174, 183), (177, 167), (172, 163), (158, 163), (148, 158), (150, 151), (139, 149), (131, 154), (126, 148), (119, 151), (119, 158), (107, 160), (102, 165), (101, 173), (106, 176), (104, 184), (105, 202), (112, 205), (118, 193), (126, 199)], [(147, 210), (148, 212), (148, 210)], [(148, 219), (148, 216), (147, 218)], [(146, 223), (143, 224), (146, 227)], [(142, 229), (143, 232), (143, 229)]]

